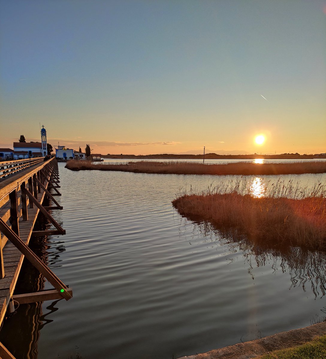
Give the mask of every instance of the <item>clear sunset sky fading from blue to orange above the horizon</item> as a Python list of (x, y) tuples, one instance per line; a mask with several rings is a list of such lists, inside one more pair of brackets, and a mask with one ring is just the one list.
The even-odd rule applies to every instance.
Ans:
[(2, 0), (0, 146), (38, 140), (41, 122), (52, 145), (102, 154), (326, 152), (325, 13), (319, 0)]

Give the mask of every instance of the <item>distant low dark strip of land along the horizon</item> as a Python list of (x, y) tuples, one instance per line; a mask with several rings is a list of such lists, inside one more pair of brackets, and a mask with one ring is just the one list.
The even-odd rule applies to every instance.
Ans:
[[(107, 154), (101, 155), (102, 158), (138, 158), (138, 159), (203, 159), (203, 154), (191, 155), (191, 154), (152, 154), (152, 155), (128, 155), (128, 154)], [(299, 154), (299, 153), (281, 153), (275, 155), (266, 154), (238, 154), (238, 155), (219, 155), (216, 153), (205, 154), (205, 159), (314, 159), (314, 158), (325, 158), (326, 154)]]

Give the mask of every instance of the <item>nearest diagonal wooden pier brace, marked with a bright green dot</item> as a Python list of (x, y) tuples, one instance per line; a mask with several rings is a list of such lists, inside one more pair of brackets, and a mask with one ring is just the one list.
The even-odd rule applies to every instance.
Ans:
[[(31, 251), (31, 249), (17, 236), (13, 230), (6, 225), (6, 223), (0, 218), (0, 230), (14, 244), (15, 247), (32, 263), (32, 265), (38, 269), (43, 276), (54, 286), (60, 295), (69, 300), (72, 298), (68, 292), (68, 287), (64, 285), (61, 280)], [(63, 292), (61, 292), (63, 290)]]

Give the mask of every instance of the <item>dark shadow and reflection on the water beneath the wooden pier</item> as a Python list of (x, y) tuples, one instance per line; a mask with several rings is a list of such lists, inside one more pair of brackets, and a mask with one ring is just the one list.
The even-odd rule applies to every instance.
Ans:
[[(46, 230), (51, 227), (48, 220), (40, 213), (35, 224), (35, 230)], [(52, 238), (52, 237), (51, 237)], [(65, 251), (64, 242), (60, 238), (50, 239), (45, 237), (33, 237), (29, 242), (29, 248), (50, 269), (60, 266), (60, 253)], [(27, 260), (24, 259), (22, 269), (16, 284), (14, 294), (32, 293), (51, 286), (44, 276)], [(61, 300), (61, 299), (59, 299)], [(0, 330), (0, 341), (17, 359), (37, 359), (37, 343), (40, 330), (47, 323), (52, 322), (49, 314), (58, 310), (56, 304), (59, 300), (49, 304), (43, 313), (42, 303), (21, 304), (13, 314), (6, 313), (7, 318)]]

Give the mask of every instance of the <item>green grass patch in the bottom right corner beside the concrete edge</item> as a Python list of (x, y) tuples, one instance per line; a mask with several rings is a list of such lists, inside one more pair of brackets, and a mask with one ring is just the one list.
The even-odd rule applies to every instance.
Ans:
[(316, 337), (306, 344), (293, 348), (275, 350), (257, 359), (321, 359), (326, 358), (326, 335)]

